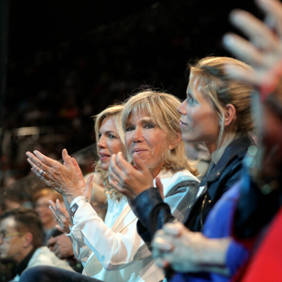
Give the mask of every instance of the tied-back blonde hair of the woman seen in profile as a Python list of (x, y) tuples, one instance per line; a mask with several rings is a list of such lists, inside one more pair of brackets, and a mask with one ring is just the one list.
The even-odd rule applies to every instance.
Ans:
[(219, 116), (220, 133), (218, 144), (224, 131), (224, 107), (232, 104), (236, 109), (236, 122), (232, 128), (235, 134), (248, 134), (253, 129), (250, 109), (252, 87), (240, 81), (230, 79), (225, 66), (231, 65), (242, 70), (251, 67), (239, 60), (229, 57), (205, 57), (195, 65), (190, 65), (190, 85), (200, 87), (203, 95), (210, 98)]

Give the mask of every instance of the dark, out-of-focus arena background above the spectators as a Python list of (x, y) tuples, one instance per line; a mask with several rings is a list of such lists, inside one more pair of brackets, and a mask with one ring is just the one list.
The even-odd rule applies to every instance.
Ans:
[(93, 144), (90, 117), (141, 85), (184, 99), (188, 61), (230, 56), (234, 8), (261, 16), (252, 0), (2, 0), (1, 187), (29, 174), (26, 150)]

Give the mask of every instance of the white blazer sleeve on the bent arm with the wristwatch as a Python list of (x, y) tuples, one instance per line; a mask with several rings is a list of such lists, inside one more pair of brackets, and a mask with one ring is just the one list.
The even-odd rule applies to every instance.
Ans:
[(70, 233), (75, 255), (86, 262), (91, 250), (107, 270), (149, 256), (150, 252), (143, 250), (146, 246), (137, 233), (136, 222), (137, 219), (124, 233), (115, 233), (89, 203), (80, 206), (75, 212)]

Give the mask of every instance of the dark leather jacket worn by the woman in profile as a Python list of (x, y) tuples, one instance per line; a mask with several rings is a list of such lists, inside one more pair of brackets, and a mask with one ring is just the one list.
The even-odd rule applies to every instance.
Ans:
[[(205, 186), (203, 193), (195, 200), (192, 208), (188, 208), (183, 223), (193, 231), (201, 231), (202, 226), (214, 204), (233, 184), (239, 180), (242, 160), (247, 148), (253, 144), (249, 136), (233, 140), (225, 149), (222, 157), (200, 183)], [(170, 208), (165, 204), (158, 189), (149, 188), (139, 194), (131, 208), (139, 218), (138, 233), (146, 243), (150, 243), (155, 232), (162, 226), (175, 220)]]

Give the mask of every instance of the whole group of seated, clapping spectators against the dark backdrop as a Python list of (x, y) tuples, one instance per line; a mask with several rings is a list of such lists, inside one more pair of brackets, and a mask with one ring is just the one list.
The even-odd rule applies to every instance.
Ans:
[[(230, 20), (249, 40), (223, 38), (242, 61), (189, 66), (182, 102), (145, 88), (95, 116), (105, 219), (91, 205), (93, 175), (86, 180), (66, 149), (63, 164), (26, 153), (50, 188), (36, 195), (37, 214), (1, 215), (0, 258), (16, 264), (12, 280), (281, 280), (282, 3), (257, 4), (273, 26), (236, 10)], [(206, 146), (204, 176), (185, 143)]]

